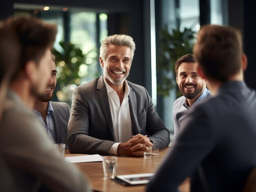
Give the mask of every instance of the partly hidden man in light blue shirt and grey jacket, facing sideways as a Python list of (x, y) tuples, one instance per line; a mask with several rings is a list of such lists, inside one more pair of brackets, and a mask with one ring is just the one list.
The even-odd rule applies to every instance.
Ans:
[(67, 148), (67, 124), (70, 116), (68, 104), (50, 102), (56, 86), (55, 56), (52, 54), (51, 79), (45, 88), (45, 94), (38, 96), (34, 110), (47, 129), (49, 137), (54, 143), (65, 143)]

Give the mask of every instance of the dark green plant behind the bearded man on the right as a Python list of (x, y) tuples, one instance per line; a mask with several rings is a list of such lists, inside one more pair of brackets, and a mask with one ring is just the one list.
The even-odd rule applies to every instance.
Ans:
[(161, 75), (158, 78), (157, 94), (166, 97), (170, 90), (175, 89), (176, 96), (180, 97), (181, 93), (176, 83), (175, 63), (183, 55), (193, 52), (195, 32), (188, 28), (184, 28), (184, 31), (173, 29), (172, 33), (169, 33), (167, 29), (162, 29), (160, 34), (161, 47), (156, 67)]

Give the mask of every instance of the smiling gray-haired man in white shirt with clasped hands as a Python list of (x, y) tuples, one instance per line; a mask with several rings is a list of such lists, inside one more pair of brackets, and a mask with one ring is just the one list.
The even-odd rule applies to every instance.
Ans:
[(112, 35), (102, 42), (103, 75), (73, 92), (70, 152), (142, 156), (153, 143), (160, 148), (170, 143), (146, 89), (126, 81), (134, 51), (135, 43), (127, 35)]

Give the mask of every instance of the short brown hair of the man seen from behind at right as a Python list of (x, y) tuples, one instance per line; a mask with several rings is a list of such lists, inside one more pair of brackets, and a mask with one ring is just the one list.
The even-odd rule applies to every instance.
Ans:
[(241, 68), (241, 33), (230, 26), (202, 26), (193, 51), (207, 78), (227, 82)]

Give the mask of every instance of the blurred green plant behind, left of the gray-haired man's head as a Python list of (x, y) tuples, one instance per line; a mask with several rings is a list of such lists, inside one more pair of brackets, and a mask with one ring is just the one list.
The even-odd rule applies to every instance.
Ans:
[[(91, 50), (85, 54), (79, 46), (70, 42), (60, 42), (59, 44), (61, 51), (52, 50), (57, 69), (57, 84), (53, 100), (71, 104), (72, 90), (80, 85), (81, 78), (88, 74), (89, 66), (96, 62), (96, 57), (92, 56), (95, 54), (90, 54), (96, 50)], [(88, 58), (91, 60), (90, 63), (87, 62)], [(96, 73), (93, 77), (95, 76)]]

